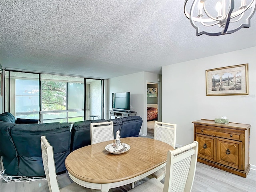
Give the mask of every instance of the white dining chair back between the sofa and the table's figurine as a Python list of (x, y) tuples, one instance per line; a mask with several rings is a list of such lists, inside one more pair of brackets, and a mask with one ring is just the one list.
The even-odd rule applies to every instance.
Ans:
[(91, 144), (114, 140), (113, 122), (91, 123)]

